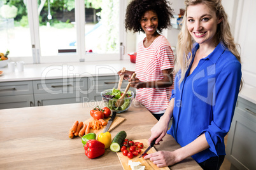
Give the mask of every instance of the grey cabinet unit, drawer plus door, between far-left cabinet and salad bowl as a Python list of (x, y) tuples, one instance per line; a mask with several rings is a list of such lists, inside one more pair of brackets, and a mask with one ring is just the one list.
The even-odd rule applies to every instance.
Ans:
[(33, 81), (36, 106), (80, 103), (88, 100), (87, 77)]

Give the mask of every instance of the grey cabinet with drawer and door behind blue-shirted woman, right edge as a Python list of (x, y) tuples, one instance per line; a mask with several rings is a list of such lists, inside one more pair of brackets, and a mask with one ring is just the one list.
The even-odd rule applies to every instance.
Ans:
[(256, 105), (238, 97), (227, 140), (227, 159), (233, 169), (256, 169)]

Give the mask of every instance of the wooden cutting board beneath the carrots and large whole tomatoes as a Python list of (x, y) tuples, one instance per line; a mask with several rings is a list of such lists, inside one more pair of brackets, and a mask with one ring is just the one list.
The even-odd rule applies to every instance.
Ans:
[[(92, 121), (94, 118), (90, 117), (90, 119), (87, 119), (86, 121), (83, 121), (84, 124), (88, 124), (90, 121)], [(110, 117), (108, 117), (107, 119), (104, 119), (104, 121), (108, 122), (108, 120), (110, 120)], [(112, 131), (113, 129), (115, 129), (119, 124), (121, 124), (122, 122), (124, 122), (125, 118), (124, 117), (115, 117), (115, 120), (111, 123), (110, 125), (110, 129), (108, 129), (108, 131)], [(104, 129), (106, 126), (103, 126), (103, 128), (98, 129), (98, 130), (93, 130), (90, 129), (90, 133), (95, 133), (95, 134), (100, 134), (103, 133)]]

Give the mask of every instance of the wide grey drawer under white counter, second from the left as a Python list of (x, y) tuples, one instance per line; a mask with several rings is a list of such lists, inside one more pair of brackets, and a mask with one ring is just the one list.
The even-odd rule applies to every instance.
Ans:
[(48, 79), (41, 81), (33, 81), (33, 88), (35, 94), (50, 93), (50, 94), (66, 94), (75, 93), (75, 91), (87, 90), (87, 78), (75, 79)]

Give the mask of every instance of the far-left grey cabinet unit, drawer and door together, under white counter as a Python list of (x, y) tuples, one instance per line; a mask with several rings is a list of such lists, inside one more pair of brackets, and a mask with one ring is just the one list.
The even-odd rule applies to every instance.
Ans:
[(0, 82), (0, 109), (33, 106), (32, 81)]

